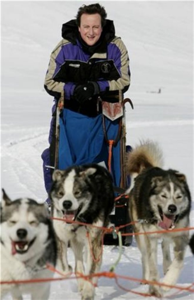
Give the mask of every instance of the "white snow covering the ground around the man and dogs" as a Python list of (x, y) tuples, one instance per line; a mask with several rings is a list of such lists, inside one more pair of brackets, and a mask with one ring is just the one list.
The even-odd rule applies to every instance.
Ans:
[[(162, 147), (165, 168), (186, 174), (193, 196), (192, 1), (99, 1), (114, 20), (130, 57), (131, 86), (125, 97), (127, 144), (151, 139)], [(61, 25), (73, 19), (82, 1), (2, 1), (2, 135), (1, 184), (12, 199), (28, 196), (44, 202), (41, 153), (48, 146), (53, 99), (43, 88), (49, 56), (61, 39)], [(87, 1), (87, 4), (92, 3)], [(158, 93), (159, 88), (161, 93)], [(190, 216), (193, 226), (193, 205)], [(159, 242), (158, 265), (162, 277)], [(102, 271), (109, 271), (118, 247), (105, 246)], [(71, 250), (69, 263), (74, 265)], [(141, 279), (140, 253), (133, 240), (123, 247), (115, 269)], [(177, 284), (193, 280), (193, 257), (186, 251)], [(133, 280), (119, 280), (126, 289), (147, 292)], [(95, 299), (142, 299), (143, 296), (102, 277)], [(164, 299), (193, 299), (171, 289)], [(6, 299), (10, 299), (9, 296)], [(28, 299), (26, 295), (25, 299)], [(51, 284), (50, 300), (80, 299), (75, 279)], [(151, 297), (150, 299), (154, 299)]]

